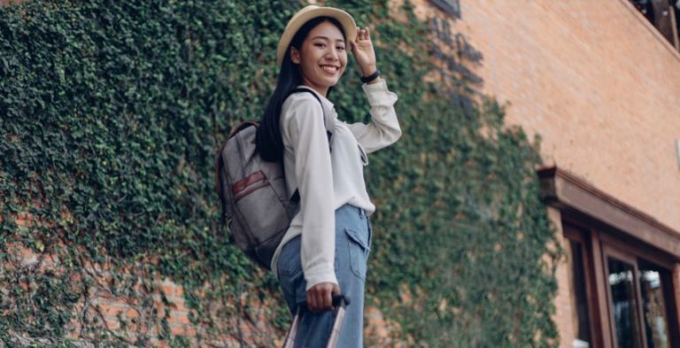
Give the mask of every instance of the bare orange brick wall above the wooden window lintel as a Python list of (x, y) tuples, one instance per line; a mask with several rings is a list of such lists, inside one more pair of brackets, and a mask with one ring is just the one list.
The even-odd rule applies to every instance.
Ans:
[[(421, 17), (437, 12), (415, 0)], [(680, 228), (680, 54), (628, 0), (460, 0), (483, 93), (547, 163)]]

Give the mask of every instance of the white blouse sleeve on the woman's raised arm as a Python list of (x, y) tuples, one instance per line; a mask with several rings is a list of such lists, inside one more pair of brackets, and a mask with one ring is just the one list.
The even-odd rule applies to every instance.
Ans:
[(370, 153), (395, 143), (401, 136), (397, 112), (394, 110), (398, 97), (387, 89), (385, 81), (364, 84), (361, 87), (371, 105), (371, 122), (347, 126), (361, 146)]

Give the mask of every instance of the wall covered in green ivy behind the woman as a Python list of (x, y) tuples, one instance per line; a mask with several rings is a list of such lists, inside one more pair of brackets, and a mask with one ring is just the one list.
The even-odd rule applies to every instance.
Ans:
[[(537, 144), (471, 97), (457, 61), (406, 3), (327, 2), (375, 28), (404, 135), (376, 153), (378, 206), (367, 298), (421, 346), (555, 346), (553, 233), (538, 197)], [(229, 130), (259, 119), (275, 45), (297, 1), (35, 0), (0, 8), (0, 342), (176, 346), (290, 321), (276, 281), (219, 224), (213, 160)], [(393, 9), (395, 10), (395, 9)], [(406, 20), (406, 21), (405, 21)], [(453, 46), (452, 46), (453, 47)], [(450, 48), (452, 48), (450, 47)], [(429, 81), (429, 82), (427, 82)], [(351, 63), (331, 99), (365, 120)], [(27, 255), (34, 258), (27, 262)], [(196, 330), (174, 333), (158, 286), (182, 285)], [(112, 328), (97, 298), (135, 308)], [(268, 341), (268, 342), (271, 342)]]

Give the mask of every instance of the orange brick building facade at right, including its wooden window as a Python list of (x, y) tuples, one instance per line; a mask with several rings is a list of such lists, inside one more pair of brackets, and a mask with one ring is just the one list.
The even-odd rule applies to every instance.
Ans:
[(540, 135), (566, 258), (561, 347), (680, 346), (680, 54), (668, 1), (425, 1), (481, 52), (480, 92)]

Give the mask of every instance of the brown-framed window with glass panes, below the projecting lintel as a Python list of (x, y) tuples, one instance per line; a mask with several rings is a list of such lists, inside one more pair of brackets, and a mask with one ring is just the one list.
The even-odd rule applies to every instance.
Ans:
[(608, 342), (617, 348), (669, 348), (680, 344), (672, 330), (677, 328), (673, 261), (644, 244), (631, 244), (583, 221), (566, 220), (562, 226), (568, 241), (574, 346), (599, 347)]

